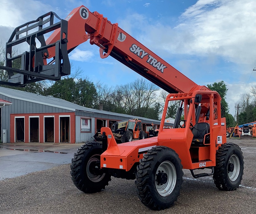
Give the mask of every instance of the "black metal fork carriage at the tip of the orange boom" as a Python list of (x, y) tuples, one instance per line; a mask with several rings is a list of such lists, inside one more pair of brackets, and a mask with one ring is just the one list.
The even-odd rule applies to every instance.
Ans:
[[(58, 22), (54, 23), (54, 18), (58, 19)], [(45, 34), (57, 29), (61, 32), (59, 39), (46, 44)], [(23, 42), (29, 45), (29, 51), (12, 56), (15, 46)], [(16, 27), (6, 43), (6, 66), (0, 65), (0, 69), (8, 73), (8, 82), (0, 81), (0, 84), (22, 87), (26, 83), (44, 79), (60, 80), (61, 76), (70, 74), (67, 42), (67, 21), (59, 18), (54, 12)], [(19, 47), (23, 46), (24, 44)], [(55, 48), (55, 56), (50, 61), (48, 48), (51, 47)], [(20, 65), (20, 62), (21, 67), (15, 67), (15, 64)]]

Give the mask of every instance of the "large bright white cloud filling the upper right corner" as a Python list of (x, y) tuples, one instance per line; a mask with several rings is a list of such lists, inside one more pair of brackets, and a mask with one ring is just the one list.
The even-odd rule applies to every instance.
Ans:
[[(256, 2), (199, 0), (181, 15), (178, 32), (189, 32), (187, 54), (214, 53), (236, 63), (255, 61)], [(186, 42), (187, 43), (187, 42)]]

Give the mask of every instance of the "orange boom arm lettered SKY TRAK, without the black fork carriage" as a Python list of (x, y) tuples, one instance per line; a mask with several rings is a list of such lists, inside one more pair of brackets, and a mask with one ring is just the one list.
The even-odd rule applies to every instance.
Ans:
[[(92, 13), (82, 5), (72, 10), (67, 19), (68, 50), (88, 39), (91, 45), (100, 47), (101, 58), (112, 56), (169, 93), (186, 92), (198, 86), (102, 14)], [(55, 42), (58, 37), (56, 30), (47, 42)]]

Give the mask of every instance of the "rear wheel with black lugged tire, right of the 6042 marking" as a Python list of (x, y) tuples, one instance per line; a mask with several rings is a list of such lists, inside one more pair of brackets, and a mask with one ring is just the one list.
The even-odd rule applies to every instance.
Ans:
[(225, 143), (216, 152), (213, 180), (220, 190), (232, 191), (239, 187), (244, 171), (244, 157), (238, 145)]

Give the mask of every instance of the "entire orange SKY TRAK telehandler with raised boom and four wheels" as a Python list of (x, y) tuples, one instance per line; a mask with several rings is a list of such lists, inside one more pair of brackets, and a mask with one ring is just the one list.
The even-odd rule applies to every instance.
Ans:
[[(44, 34), (51, 31), (45, 41)], [(70, 73), (68, 53), (87, 40), (100, 47), (101, 58), (115, 58), (170, 94), (157, 137), (117, 145), (111, 129), (103, 127), (102, 143), (87, 142), (77, 150), (71, 164), (77, 188), (93, 193), (104, 189), (111, 176), (136, 179), (141, 202), (159, 210), (172, 206), (180, 195), (182, 168), (189, 169), (195, 178), (213, 175), (220, 190), (239, 187), (243, 156), (238, 145), (226, 143), (220, 95), (197, 85), (118, 24), (85, 6), (72, 10), (65, 20), (50, 12), (17, 27), (6, 43), (6, 66), (0, 66), (8, 72), (9, 80), (0, 84), (24, 86), (43, 79), (59, 80)], [(28, 43), (30, 50), (12, 56), (12, 47), (22, 42)], [(14, 68), (13, 61), (18, 58), (21, 68)], [(173, 129), (165, 129), (170, 101), (180, 104)], [(194, 172), (205, 168), (211, 172)]]

